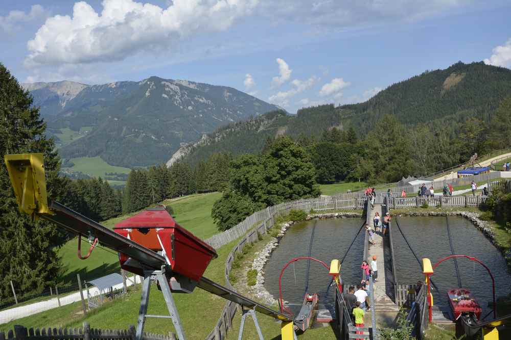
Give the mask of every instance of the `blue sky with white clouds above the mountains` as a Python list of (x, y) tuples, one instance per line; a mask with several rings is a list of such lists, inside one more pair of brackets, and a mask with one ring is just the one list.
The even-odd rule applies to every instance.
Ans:
[(363, 101), (457, 61), (511, 67), (511, 1), (7, 1), (0, 62), (21, 82), (151, 75), (225, 85), (289, 112)]

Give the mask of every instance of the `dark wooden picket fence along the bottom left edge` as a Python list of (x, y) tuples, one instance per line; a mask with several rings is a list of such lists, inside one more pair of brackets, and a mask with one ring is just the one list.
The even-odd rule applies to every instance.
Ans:
[[(9, 330), (7, 336), (0, 332), (0, 340), (134, 340), (135, 326), (128, 329), (96, 329), (90, 328), (86, 322), (80, 328), (30, 328), (14, 326), (14, 332)], [(144, 340), (176, 340), (174, 333), (168, 335), (144, 333)]]

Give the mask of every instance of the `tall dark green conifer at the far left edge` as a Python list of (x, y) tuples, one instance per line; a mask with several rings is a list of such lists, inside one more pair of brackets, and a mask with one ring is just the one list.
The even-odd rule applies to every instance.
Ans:
[[(45, 136), (46, 124), (32, 102), (29, 92), (0, 64), (0, 159), (10, 153), (42, 152), (48, 194), (61, 200), (69, 183), (58, 177), (60, 159), (54, 141)], [(61, 268), (57, 250), (66, 233), (18, 211), (4, 164), (0, 166), (0, 202), (0, 299), (10, 296), (11, 280), (18, 294), (54, 285)]]

